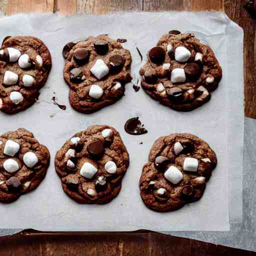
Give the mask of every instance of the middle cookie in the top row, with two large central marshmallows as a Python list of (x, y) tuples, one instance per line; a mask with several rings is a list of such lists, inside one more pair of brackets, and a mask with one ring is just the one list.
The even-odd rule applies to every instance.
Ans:
[(131, 81), (131, 55), (119, 42), (105, 34), (89, 36), (67, 43), (62, 53), (69, 102), (75, 110), (92, 113), (124, 95), (125, 83)]

